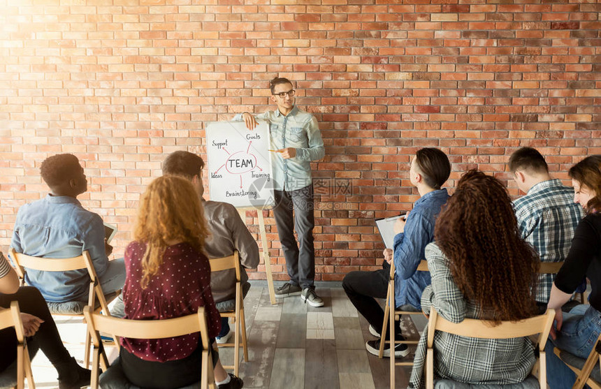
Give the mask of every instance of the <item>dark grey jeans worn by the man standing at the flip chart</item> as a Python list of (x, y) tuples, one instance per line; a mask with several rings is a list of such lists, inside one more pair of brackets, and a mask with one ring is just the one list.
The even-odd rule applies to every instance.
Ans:
[[(301, 288), (314, 288), (313, 186), (305, 186), (296, 191), (273, 192), (275, 197), (273, 216), (275, 216), (277, 234), (282, 242), (290, 283), (300, 285)], [(294, 238), (294, 230), (298, 235), (298, 246)]]

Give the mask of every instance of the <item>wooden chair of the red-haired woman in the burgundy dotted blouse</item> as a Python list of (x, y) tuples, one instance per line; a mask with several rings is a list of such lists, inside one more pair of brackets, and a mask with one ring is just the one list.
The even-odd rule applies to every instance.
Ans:
[(198, 308), (196, 314), (181, 316), (178, 318), (168, 318), (165, 320), (129, 320), (125, 318), (115, 318), (113, 316), (104, 316), (93, 312), (90, 307), (83, 309), (87, 329), (94, 351), (92, 353), (92, 389), (98, 388), (99, 365), (103, 371), (109, 367), (108, 358), (104, 352), (99, 332), (107, 332), (115, 337), (128, 337), (134, 339), (161, 339), (167, 337), (179, 337), (193, 332), (201, 333), (201, 342), (203, 344), (203, 353), (201, 358), (201, 388), (216, 389), (215, 378), (213, 376), (213, 366), (209, 355), (209, 332), (207, 321), (205, 319), (204, 307)]

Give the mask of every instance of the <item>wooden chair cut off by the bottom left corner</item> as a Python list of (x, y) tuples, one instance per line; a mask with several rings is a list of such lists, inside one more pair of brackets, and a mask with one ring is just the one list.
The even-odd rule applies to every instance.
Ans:
[[(17, 389), (23, 389), (25, 378), (27, 377), (28, 388), (36, 388), (33, 374), (31, 374), (31, 360), (29, 360), (29, 350), (27, 349), (27, 339), (21, 321), (21, 311), (19, 303), (13, 301), (10, 303), (10, 309), (0, 309), (0, 330), (14, 327), (17, 333)], [(14, 382), (14, 381), (13, 381)]]

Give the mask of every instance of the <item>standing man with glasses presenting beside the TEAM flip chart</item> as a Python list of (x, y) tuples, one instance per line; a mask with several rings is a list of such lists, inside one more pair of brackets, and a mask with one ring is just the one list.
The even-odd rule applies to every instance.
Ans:
[[(301, 295), (312, 307), (323, 307), (324, 300), (315, 293), (315, 252), (313, 245), (313, 184), (311, 161), (325, 155), (324, 141), (313, 115), (294, 105), (294, 87), (287, 78), (270, 82), (271, 101), (277, 110), (250, 115), (236, 115), (248, 129), (257, 125), (256, 119), (269, 122), (270, 147), (275, 150), (273, 184), (275, 207), (273, 216), (284, 250), (290, 281), (275, 291), (275, 297)], [(293, 212), (294, 210), (294, 212)], [(298, 235), (298, 243), (294, 238)], [(300, 246), (300, 247), (299, 247)]]

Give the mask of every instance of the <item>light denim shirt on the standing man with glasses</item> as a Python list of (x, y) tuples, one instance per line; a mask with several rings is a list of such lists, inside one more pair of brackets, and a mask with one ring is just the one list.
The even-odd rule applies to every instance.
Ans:
[[(296, 156), (283, 159), (280, 153), (273, 153), (273, 189), (277, 191), (296, 191), (311, 184), (310, 161), (324, 158), (326, 149), (317, 119), (313, 115), (298, 109), (296, 105), (286, 116), (280, 110), (267, 111), (255, 116), (269, 122), (270, 147), (274, 150), (293, 147)], [(242, 115), (236, 115), (233, 121), (240, 122)]]

